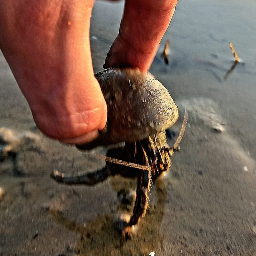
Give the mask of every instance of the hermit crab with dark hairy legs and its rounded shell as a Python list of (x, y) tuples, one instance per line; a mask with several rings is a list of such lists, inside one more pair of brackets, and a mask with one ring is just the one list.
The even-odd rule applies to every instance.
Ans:
[(51, 178), (56, 182), (74, 185), (94, 185), (110, 176), (137, 178), (136, 200), (128, 222), (120, 221), (124, 236), (144, 217), (149, 205), (152, 183), (169, 170), (170, 158), (179, 151), (187, 115), (173, 147), (166, 141), (165, 130), (178, 119), (178, 108), (166, 88), (150, 73), (132, 69), (106, 69), (95, 74), (108, 106), (108, 123), (94, 141), (76, 145), (90, 150), (124, 142), (124, 146), (108, 149), (106, 166), (91, 173), (68, 176), (57, 170)]

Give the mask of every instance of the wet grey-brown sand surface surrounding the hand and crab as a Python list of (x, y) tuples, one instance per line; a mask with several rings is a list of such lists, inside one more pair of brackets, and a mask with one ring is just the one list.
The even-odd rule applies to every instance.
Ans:
[[(122, 8), (122, 2), (95, 4), (95, 71), (102, 69)], [(12, 159), (0, 162), (0, 255), (256, 255), (255, 8), (249, 0), (180, 0), (150, 71), (180, 110), (170, 134), (178, 134), (185, 108), (189, 121), (182, 151), (152, 186), (150, 209), (128, 241), (116, 230), (116, 216), (124, 210), (117, 192), (134, 189), (135, 182), (114, 177), (92, 187), (67, 187), (51, 180), (54, 169), (102, 168), (104, 162), (90, 154), (106, 149), (81, 153), (40, 134), (0, 55), (0, 127), (40, 137), (30, 141), (34, 146), (16, 144), (24, 176), (13, 175)], [(168, 66), (161, 58), (167, 39)], [(227, 76), (234, 64), (230, 41), (242, 63)]]

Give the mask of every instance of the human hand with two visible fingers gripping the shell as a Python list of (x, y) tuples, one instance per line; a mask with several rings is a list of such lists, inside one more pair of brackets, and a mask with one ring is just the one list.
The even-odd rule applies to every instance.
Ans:
[[(104, 67), (149, 69), (178, 0), (127, 0)], [(90, 53), (93, 0), (9, 0), (0, 8), (0, 48), (38, 128), (62, 142), (93, 140), (106, 102)]]

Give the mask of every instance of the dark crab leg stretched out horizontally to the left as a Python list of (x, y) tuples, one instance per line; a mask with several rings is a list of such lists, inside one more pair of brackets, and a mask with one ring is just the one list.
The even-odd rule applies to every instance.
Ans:
[(108, 170), (107, 166), (105, 166), (96, 172), (83, 173), (75, 176), (65, 176), (64, 173), (54, 170), (54, 172), (50, 174), (50, 177), (58, 183), (65, 183), (68, 185), (94, 185), (98, 182), (106, 180), (106, 178), (108, 178), (110, 175), (110, 171)]

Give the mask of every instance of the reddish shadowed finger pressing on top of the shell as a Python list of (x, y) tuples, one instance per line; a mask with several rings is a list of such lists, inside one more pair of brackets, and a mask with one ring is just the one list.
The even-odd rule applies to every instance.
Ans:
[(178, 0), (127, 0), (118, 36), (104, 68), (133, 67), (147, 71), (168, 28)]

